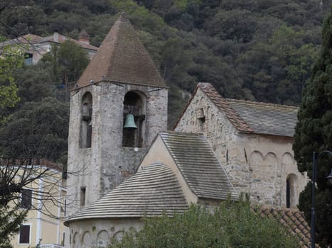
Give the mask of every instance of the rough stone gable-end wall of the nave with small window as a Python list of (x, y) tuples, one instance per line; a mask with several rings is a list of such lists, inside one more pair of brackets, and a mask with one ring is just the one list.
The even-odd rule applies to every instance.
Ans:
[(204, 133), (235, 189), (244, 191), (249, 170), (243, 166), (245, 163), (237, 151), (237, 130), (199, 89), (176, 125), (175, 131)]

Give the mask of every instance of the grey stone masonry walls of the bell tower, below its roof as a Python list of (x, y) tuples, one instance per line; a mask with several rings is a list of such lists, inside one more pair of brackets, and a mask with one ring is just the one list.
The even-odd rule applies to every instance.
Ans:
[[(92, 94), (92, 145), (80, 148), (82, 96)], [(144, 145), (122, 147), (124, 96), (137, 91), (144, 96)], [(68, 136), (68, 213), (80, 208), (85, 187), (85, 205), (134, 174), (139, 162), (160, 130), (166, 130), (168, 89), (132, 84), (100, 82), (72, 91)], [(70, 204), (70, 205), (69, 205)]]

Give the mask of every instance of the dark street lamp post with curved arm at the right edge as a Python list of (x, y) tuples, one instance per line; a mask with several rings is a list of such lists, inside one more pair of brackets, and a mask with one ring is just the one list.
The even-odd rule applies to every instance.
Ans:
[[(321, 155), (328, 153), (332, 156), (332, 152), (323, 151), (317, 156), (317, 152), (312, 153), (312, 186), (311, 186), (311, 248), (315, 247), (315, 220), (316, 220), (316, 208), (315, 208), (315, 184), (316, 184), (316, 173), (317, 173), (317, 162)], [(326, 177), (332, 184), (332, 169), (331, 173)]]

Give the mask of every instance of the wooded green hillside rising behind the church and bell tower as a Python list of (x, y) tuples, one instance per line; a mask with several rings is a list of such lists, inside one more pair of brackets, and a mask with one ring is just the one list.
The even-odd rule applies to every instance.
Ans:
[[(100, 45), (126, 12), (170, 89), (170, 126), (198, 81), (225, 97), (299, 104), (331, 0), (4, 0), (0, 33), (80, 30)], [(1, 10), (1, 6), (0, 6)]]

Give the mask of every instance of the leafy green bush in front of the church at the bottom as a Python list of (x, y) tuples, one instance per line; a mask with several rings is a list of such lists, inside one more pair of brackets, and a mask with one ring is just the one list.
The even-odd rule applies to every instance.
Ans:
[[(116, 242), (116, 241), (115, 241)], [(263, 218), (249, 201), (225, 201), (218, 208), (191, 207), (169, 218), (146, 218), (138, 232), (112, 247), (299, 247), (299, 240), (276, 219)]]

